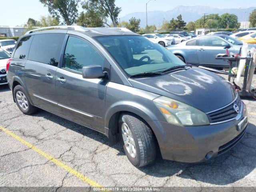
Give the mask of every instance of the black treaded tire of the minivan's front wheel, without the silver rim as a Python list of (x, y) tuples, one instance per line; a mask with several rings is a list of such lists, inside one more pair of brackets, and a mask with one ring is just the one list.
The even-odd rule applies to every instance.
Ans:
[[(125, 123), (130, 129), (135, 143), (136, 156), (133, 158), (124, 144), (122, 136), (122, 124)], [(146, 122), (133, 114), (122, 114), (119, 119), (120, 140), (128, 160), (136, 167), (146, 166), (156, 158), (156, 138)]]

